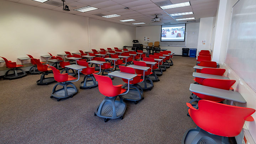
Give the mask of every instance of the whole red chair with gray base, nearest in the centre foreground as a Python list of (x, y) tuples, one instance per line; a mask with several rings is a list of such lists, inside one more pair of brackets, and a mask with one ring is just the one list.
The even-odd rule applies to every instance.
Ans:
[[(107, 76), (93, 74), (98, 81), (98, 89), (104, 96), (104, 100), (97, 107), (94, 116), (103, 117), (104, 122), (109, 119), (121, 118), (126, 111), (126, 103), (123, 101), (120, 94), (124, 93), (126, 89), (122, 89), (123, 85), (114, 86), (112, 80)], [(119, 97), (119, 101), (116, 98)]]

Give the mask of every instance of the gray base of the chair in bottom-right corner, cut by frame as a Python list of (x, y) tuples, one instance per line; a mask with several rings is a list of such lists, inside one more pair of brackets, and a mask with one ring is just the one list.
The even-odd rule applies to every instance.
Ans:
[(228, 137), (206, 132), (196, 127), (188, 129), (182, 138), (182, 144), (229, 144)]

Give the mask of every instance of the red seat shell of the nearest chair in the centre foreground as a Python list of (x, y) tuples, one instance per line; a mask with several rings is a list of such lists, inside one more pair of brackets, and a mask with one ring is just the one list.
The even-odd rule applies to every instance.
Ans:
[(98, 81), (98, 89), (102, 95), (113, 97), (121, 93), (121, 86), (113, 86), (111, 78), (103, 75), (93, 74)]

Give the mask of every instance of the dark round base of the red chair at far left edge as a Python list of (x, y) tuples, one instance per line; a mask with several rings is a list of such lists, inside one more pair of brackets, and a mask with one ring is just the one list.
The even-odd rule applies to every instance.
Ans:
[[(13, 71), (13, 73), (10, 73), (11, 71)], [(20, 71), (20, 72), (18, 72)], [(27, 73), (23, 70), (23, 69), (19, 69), (19, 68), (13, 68), (13, 69), (9, 69), (6, 71), (4, 79), (18, 79), (18, 78), (22, 78), (23, 76), (26, 76)]]

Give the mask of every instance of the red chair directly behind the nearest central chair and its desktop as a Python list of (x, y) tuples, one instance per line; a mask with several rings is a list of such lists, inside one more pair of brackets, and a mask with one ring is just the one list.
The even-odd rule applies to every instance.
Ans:
[[(126, 66), (119, 66), (119, 69), (121, 72), (129, 73), (129, 74), (135, 74), (135, 70), (133, 68), (129, 68)], [(139, 82), (142, 82), (143, 79), (141, 79), (142, 75), (137, 75), (133, 80), (129, 81), (129, 92), (128, 94), (122, 95), (124, 100), (128, 101), (134, 101), (134, 104), (136, 105), (138, 101), (143, 100), (143, 89), (140, 85), (138, 85)], [(126, 84), (123, 86), (123, 89), (128, 89), (128, 80), (122, 79)]]

